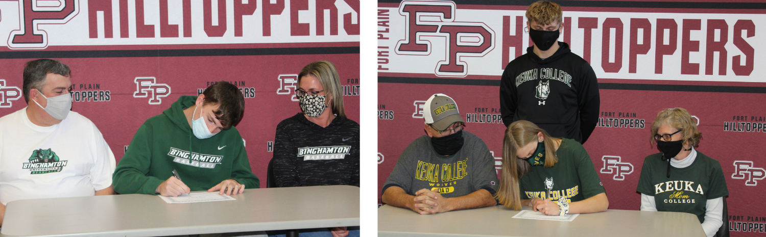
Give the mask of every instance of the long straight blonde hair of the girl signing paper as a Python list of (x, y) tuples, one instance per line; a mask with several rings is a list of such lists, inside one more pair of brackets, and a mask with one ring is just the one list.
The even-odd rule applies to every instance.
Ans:
[(500, 187), (495, 193), (495, 198), (502, 206), (519, 210), (522, 208), (521, 193), (519, 193), (519, 180), (529, 173), (529, 162), (516, 157), (516, 152), (526, 144), (537, 141), (538, 133), (542, 132), (545, 142), (544, 167), (553, 167), (558, 162), (556, 157), (555, 141), (532, 122), (519, 120), (512, 122), (506, 128), (505, 138), (502, 138), (502, 170), (500, 170)]

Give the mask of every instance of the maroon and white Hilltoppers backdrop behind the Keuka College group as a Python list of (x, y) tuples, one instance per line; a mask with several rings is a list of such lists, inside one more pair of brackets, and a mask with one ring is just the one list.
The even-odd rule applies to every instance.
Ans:
[[(499, 80), (526, 53), (534, 1), (378, 2), (378, 187), (399, 155), (424, 135), (424, 102), (444, 93), (466, 131), (502, 164), (505, 126)], [(662, 109), (682, 107), (699, 123), (699, 151), (719, 161), (728, 186), (732, 236), (766, 232), (766, 87), (761, 33), (766, 5), (723, 1), (561, 1), (563, 34), (591, 63), (601, 113), (584, 144), (610, 209), (639, 209), (636, 187)], [(760, 64), (759, 64), (760, 63)], [(378, 190), (378, 198), (380, 190)]]

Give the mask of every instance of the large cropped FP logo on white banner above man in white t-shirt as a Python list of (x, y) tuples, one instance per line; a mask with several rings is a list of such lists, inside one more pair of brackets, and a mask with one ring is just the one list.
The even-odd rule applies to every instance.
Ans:
[[(49, 2), (54, 2), (54, 5), (50, 5)], [(58, 5), (55, 5), (56, 2)], [(20, 30), (11, 31), (8, 35), (8, 48), (15, 50), (46, 48), (47, 32), (40, 29), (40, 24), (66, 24), (79, 12), (79, 0), (18, 0)]]

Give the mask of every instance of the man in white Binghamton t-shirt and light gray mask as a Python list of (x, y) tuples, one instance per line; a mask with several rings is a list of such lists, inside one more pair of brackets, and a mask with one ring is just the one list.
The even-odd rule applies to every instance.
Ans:
[(67, 65), (26, 63), (27, 107), (0, 118), (0, 223), (14, 200), (114, 194), (114, 154), (101, 132), (71, 112)]

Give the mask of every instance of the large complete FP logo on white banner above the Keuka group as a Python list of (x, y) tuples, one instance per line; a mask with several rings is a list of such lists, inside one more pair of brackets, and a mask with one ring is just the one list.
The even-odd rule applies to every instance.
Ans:
[[(431, 43), (421, 36), (444, 37), (445, 60), (437, 63), (437, 76), (463, 77), (468, 64), (461, 57), (483, 57), (495, 47), (495, 32), (482, 22), (457, 22), (455, 2), (404, 1), (399, 14), (407, 18), (404, 40), (394, 52), (400, 55), (429, 55)], [(438, 19), (438, 20), (437, 20)]]

